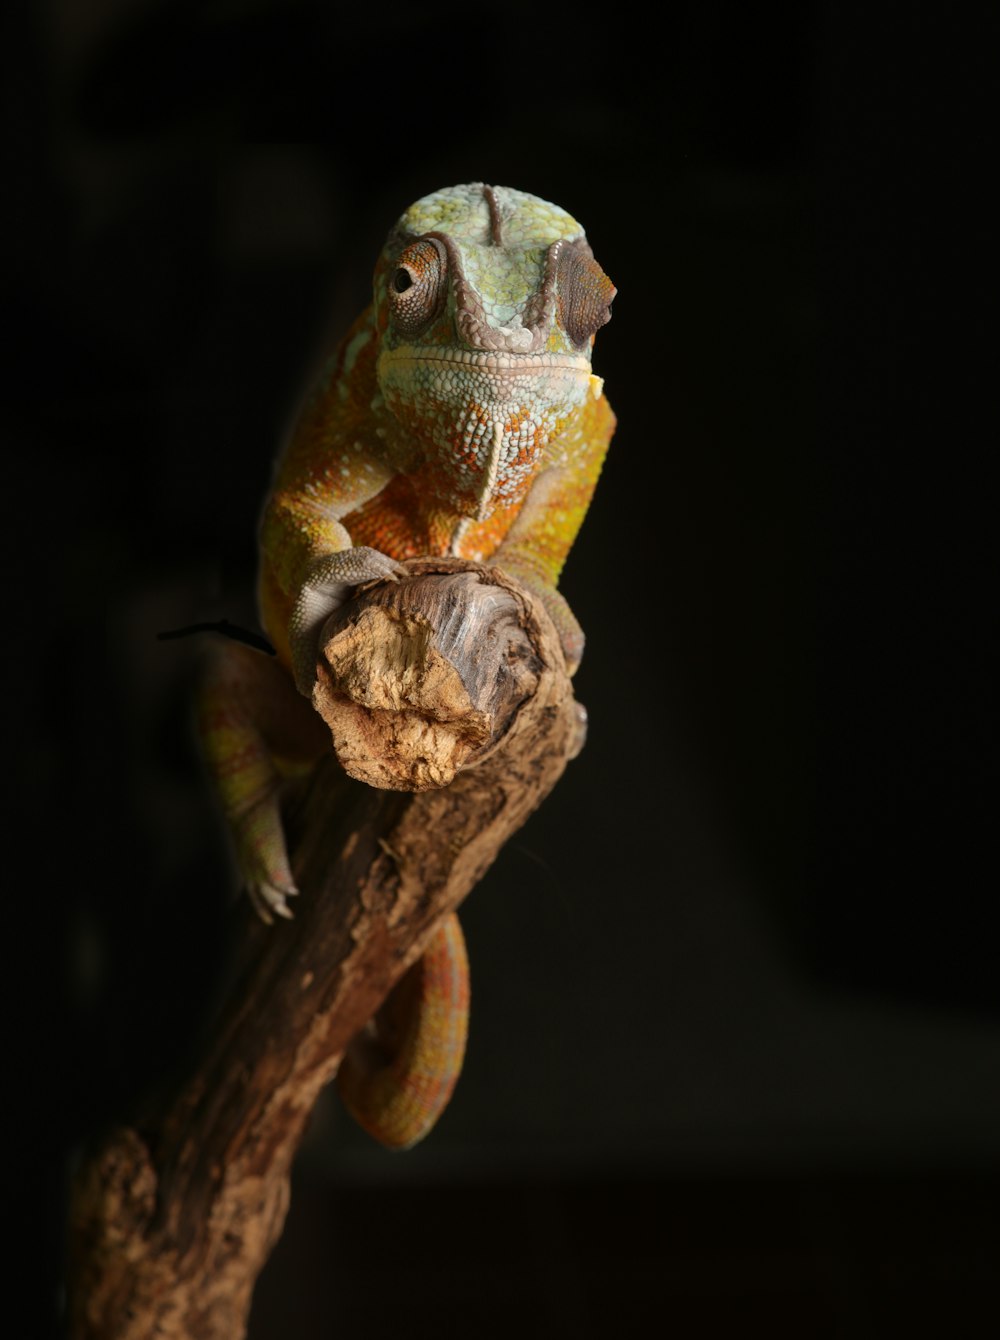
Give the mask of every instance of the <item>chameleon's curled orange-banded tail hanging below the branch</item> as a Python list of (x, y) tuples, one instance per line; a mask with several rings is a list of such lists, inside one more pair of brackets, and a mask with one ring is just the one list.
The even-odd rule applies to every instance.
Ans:
[(350, 1044), (336, 1076), (355, 1122), (390, 1150), (432, 1130), (461, 1073), (469, 1026), (469, 962), (452, 913)]

